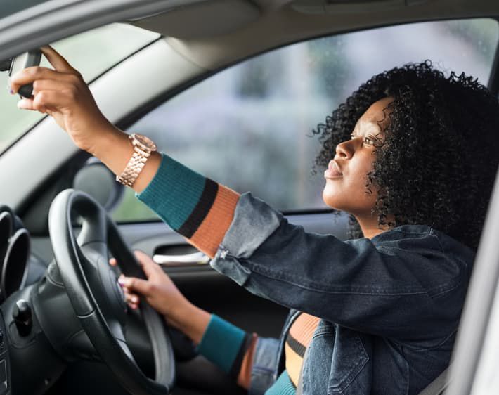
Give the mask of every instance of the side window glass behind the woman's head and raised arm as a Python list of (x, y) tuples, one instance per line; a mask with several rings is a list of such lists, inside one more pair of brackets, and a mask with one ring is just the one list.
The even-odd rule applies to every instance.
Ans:
[[(230, 67), (171, 98), (130, 130), (189, 167), (284, 212), (323, 209), (311, 130), (365, 80), (432, 60), (488, 82), (498, 22), (423, 22), (313, 39)], [(153, 219), (131, 190), (118, 221)]]

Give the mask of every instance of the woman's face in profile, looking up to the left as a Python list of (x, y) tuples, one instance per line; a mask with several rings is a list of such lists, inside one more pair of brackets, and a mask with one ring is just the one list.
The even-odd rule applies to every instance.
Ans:
[(375, 161), (375, 145), (383, 138), (382, 130), (388, 122), (387, 108), (393, 98), (373, 103), (358, 119), (351, 139), (339, 143), (335, 157), (324, 172), (323, 200), (326, 205), (354, 216), (371, 216), (377, 199), (376, 188), (365, 188), (367, 174)]

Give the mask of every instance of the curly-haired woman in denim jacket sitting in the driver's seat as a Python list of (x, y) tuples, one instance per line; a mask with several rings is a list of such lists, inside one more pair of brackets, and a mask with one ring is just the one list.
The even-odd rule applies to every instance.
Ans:
[(499, 105), (484, 86), (406, 65), (372, 77), (318, 126), (323, 200), (363, 233), (342, 242), (167, 155), (143, 155), (134, 173), (127, 135), (79, 73), (43, 51), (56, 70), (15, 75), (11, 93), (34, 84), (19, 107), (54, 117), (212, 267), (292, 311), (280, 341), (247, 334), (190, 304), (141, 252), (148, 280), (120, 279), (132, 308), (145, 298), (251, 394), (417, 394), (446, 368), (498, 166)]

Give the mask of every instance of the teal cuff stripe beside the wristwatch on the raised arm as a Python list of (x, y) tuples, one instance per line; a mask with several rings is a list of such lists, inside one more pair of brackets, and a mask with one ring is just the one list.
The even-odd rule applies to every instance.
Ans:
[(160, 168), (149, 185), (136, 193), (171, 228), (178, 230), (199, 202), (206, 179), (168, 155), (161, 154)]

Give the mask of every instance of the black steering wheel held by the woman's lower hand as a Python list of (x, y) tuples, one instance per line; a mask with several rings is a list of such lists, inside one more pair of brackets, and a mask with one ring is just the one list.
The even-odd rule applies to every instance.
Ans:
[[(78, 237), (75, 214), (82, 219)], [(160, 315), (141, 302), (140, 313), (153, 348), (155, 380), (138, 367), (124, 337), (127, 304), (108, 263), (108, 251), (125, 276), (145, 278), (145, 274), (115, 222), (92, 197), (67, 189), (52, 202), (48, 229), (67, 296), (102, 361), (131, 394), (169, 394), (175, 380), (174, 351)]]

